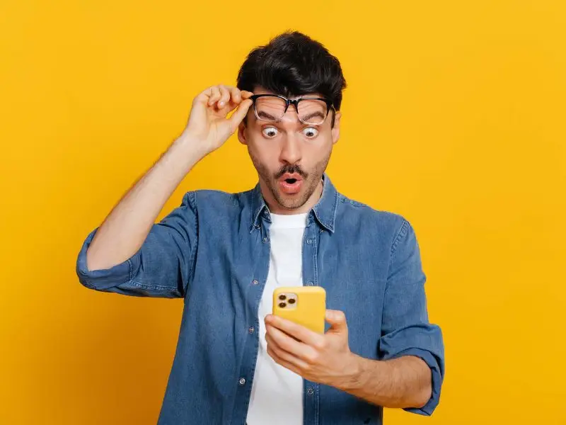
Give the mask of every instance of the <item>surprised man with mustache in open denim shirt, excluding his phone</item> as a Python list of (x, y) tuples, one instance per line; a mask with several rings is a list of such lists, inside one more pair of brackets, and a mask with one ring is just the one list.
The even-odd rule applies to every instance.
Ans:
[[(345, 85), (340, 62), (306, 35), (256, 48), (237, 88), (195, 98), (183, 134), (83, 244), (86, 287), (184, 298), (158, 424), (381, 424), (383, 407), (437, 406), (444, 347), (415, 232), (325, 174)], [(258, 185), (186, 193), (154, 224), (236, 130)], [(325, 334), (269, 314), (280, 285), (325, 288)]]

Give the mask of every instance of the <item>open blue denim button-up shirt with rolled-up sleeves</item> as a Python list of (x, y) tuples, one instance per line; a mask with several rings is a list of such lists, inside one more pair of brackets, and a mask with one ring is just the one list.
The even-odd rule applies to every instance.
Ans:
[[(412, 355), (432, 370), (432, 414), (444, 376), (439, 327), (429, 324), (425, 276), (407, 220), (350, 200), (324, 176), (307, 216), (304, 285), (326, 290), (327, 307), (346, 314), (350, 350), (384, 360)], [(184, 299), (178, 346), (160, 425), (246, 423), (258, 358), (258, 305), (270, 262), (270, 210), (259, 184), (243, 193), (192, 191), (155, 224), (124, 263), (76, 271), (87, 288)], [(328, 329), (328, 324), (327, 324)], [(274, 385), (277, 385), (274, 383)], [(335, 387), (304, 380), (304, 425), (381, 424), (383, 409)], [(275, 413), (275, 412), (274, 412)]]

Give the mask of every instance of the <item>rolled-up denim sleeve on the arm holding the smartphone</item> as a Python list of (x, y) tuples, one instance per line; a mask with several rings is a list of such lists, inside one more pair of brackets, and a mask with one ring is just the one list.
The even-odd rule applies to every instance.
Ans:
[(403, 220), (391, 246), (378, 351), (381, 360), (417, 356), (427, 363), (432, 372), (432, 396), (424, 407), (405, 410), (430, 415), (439, 403), (444, 379), (444, 343), (441, 329), (429, 323), (425, 280), (415, 232)]

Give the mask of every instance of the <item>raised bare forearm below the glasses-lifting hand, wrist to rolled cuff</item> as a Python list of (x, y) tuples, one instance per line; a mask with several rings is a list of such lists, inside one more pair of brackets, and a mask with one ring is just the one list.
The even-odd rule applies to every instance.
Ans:
[(110, 268), (133, 256), (163, 205), (203, 156), (196, 140), (175, 140), (106, 217), (86, 252), (88, 269)]

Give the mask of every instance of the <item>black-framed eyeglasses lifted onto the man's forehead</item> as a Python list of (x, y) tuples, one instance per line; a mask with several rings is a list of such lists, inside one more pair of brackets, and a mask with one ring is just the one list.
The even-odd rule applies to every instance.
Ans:
[(250, 99), (253, 101), (255, 117), (270, 123), (281, 120), (289, 105), (295, 106), (299, 121), (304, 124), (320, 125), (326, 120), (330, 109), (336, 113), (333, 103), (325, 98), (302, 97), (291, 100), (277, 94), (254, 94)]

